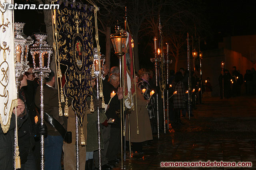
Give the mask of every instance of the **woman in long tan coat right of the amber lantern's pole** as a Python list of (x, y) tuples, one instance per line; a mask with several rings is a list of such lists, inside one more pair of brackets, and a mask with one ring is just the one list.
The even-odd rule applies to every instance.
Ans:
[[(136, 84), (138, 83), (138, 76), (135, 76)], [(130, 114), (130, 137), (132, 142), (132, 150), (135, 153), (142, 153), (142, 142), (152, 140), (152, 131), (150, 126), (150, 120), (148, 117), (148, 110), (146, 105), (149, 100), (145, 100), (142, 91), (136, 86), (137, 94), (137, 115), (138, 115), (138, 132), (137, 134), (137, 116), (136, 116), (136, 100), (134, 98), (134, 111)], [(135, 97), (135, 96), (134, 96)], [(128, 115), (126, 115), (126, 140), (129, 140), (128, 132)]]

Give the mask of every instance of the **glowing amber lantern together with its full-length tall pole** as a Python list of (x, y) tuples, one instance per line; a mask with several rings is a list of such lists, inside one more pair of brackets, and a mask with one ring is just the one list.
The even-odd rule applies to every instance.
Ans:
[[(116, 25), (116, 33), (110, 35), (110, 39), (115, 49), (115, 54), (118, 56), (119, 59), (119, 72), (120, 72), (120, 88), (122, 87), (123, 80), (122, 80), (122, 58), (125, 54), (125, 46), (126, 46), (126, 39), (127, 33), (124, 29), (120, 28), (119, 25)], [(120, 119), (121, 119), (121, 168), (123, 168), (123, 127), (122, 127), (122, 116), (124, 116), (123, 110), (123, 99), (121, 100), (120, 104)], [(124, 152), (125, 153), (125, 152)]]

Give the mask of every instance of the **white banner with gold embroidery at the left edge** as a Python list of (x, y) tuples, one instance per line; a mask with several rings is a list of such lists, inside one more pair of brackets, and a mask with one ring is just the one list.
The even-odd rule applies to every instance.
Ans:
[(17, 94), (14, 69), (14, 33), (13, 10), (4, 10), (3, 3), (12, 4), (11, 0), (0, 0), (0, 123), (6, 133), (10, 127), (12, 109), (17, 106)]

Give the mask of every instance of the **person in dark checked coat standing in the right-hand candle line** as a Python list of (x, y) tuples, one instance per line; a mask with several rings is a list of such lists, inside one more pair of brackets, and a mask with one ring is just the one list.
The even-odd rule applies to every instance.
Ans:
[(174, 108), (174, 116), (175, 123), (182, 124), (180, 120), (180, 110), (186, 108), (186, 92), (184, 88), (184, 83), (182, 82), (183, 76), (181, 72), (177, 72), (175, 74), (175, 83), (174, 83), (174, 91), (177, 91), (177, 94), (173, 96), (173, 108)]

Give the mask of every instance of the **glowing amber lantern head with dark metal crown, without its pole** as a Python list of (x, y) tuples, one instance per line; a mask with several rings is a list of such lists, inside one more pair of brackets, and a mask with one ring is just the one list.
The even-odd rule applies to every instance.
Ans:
[(115, 49), (116, 55), (124, 55), (127, 33), (119, 25), (115, 27), (116, 33), (110, 35), (110, 39)]

